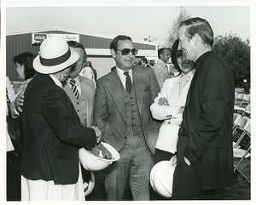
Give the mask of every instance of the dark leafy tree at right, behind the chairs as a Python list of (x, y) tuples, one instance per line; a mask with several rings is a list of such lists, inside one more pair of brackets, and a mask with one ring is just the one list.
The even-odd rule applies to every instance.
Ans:
[[(228, 61), (235, 80), (235, 86), (244, 88), (250, 83), (250, 41), (241, 41), (234, 34), (219, 37), (212, 50)], [(245, 83), (247, 82), (247, 83)]]

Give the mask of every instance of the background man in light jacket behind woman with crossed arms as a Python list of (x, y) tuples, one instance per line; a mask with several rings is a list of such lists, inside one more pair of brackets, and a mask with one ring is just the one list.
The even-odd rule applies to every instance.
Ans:
[(160, 86), (166, 81), (166, 79), (172, 77), (172, 75), (169, 73), (168, 66), (166, 65), (170, 59), (170, 55), (171, 53), (168, 48), (160, 48), (158, 50), (159, 60), (157, 60), (154, 64), (154, 75)]

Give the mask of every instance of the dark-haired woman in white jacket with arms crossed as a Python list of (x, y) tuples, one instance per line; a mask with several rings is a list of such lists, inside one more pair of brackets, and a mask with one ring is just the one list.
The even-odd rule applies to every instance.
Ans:
[[(189, 86), (195, 73), (194, 62), (183, 60), (181, 50), (177, 49), (178, 40), (172, 45), (172, 64), (180, 72), (177, 77), (166, 79), (160, 93), (150, 106), (152, 116), (164, 120), (155, 144), (154, 163), (169, 161), (177, 151), (177, 132), (182, 122), (183, 107)], [(167, 199), (154, 193), (156, 199)]]

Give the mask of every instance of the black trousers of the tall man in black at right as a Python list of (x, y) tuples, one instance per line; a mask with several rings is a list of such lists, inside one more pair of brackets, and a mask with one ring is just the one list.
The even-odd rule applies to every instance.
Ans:
[(183, 159), (183, 151), (189, 138), (185, 130), (180, 128), (177, 140), (177, 166), (173, 174), (172, 199), (214, 199), (215, 190), (201, 190), (196, 166), (190, 165)]

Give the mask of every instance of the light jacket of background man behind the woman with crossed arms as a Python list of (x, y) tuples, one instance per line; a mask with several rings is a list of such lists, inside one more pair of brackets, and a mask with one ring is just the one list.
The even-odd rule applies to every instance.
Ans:
[(157, 79), (157, 82), (161, 86), (162, 83), (166, 81), (166, 79), (170, 78), (171, 75), (169, 74), (166, 64), (162, 60), (157, 60), (154, 64), (154, 75)]

